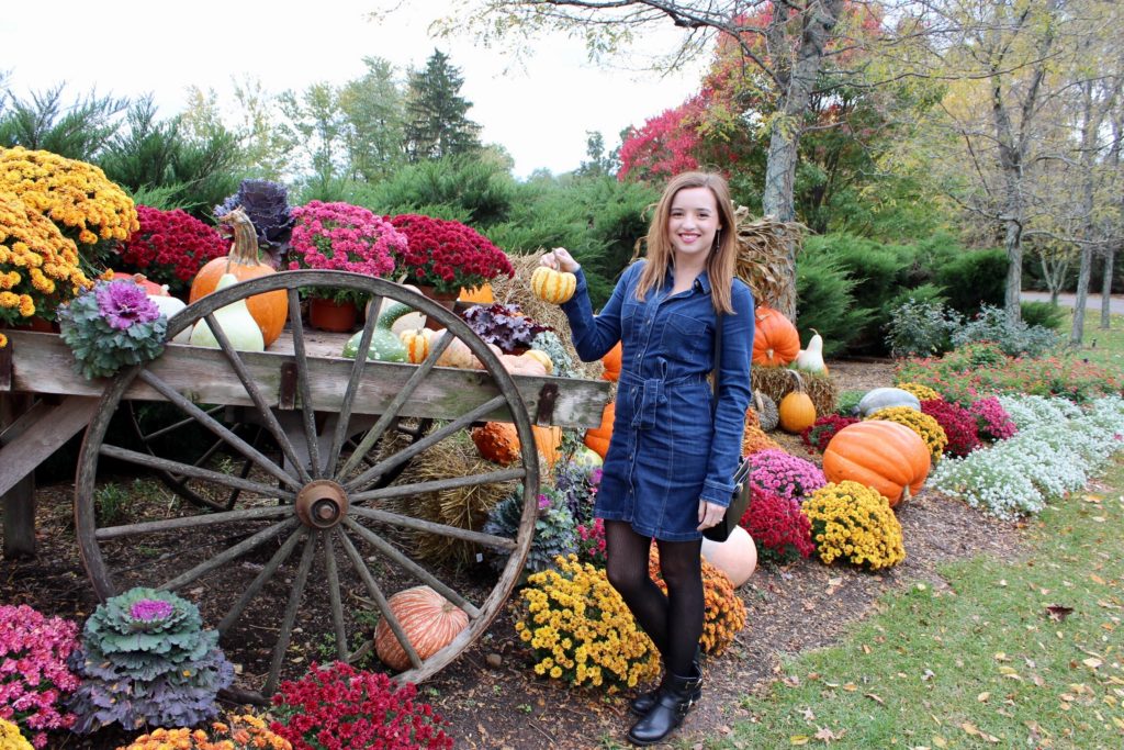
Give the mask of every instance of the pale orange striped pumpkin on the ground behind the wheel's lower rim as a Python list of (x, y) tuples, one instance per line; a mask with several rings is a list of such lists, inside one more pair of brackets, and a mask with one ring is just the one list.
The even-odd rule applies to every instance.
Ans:
[[(469, 615), (428, 586), (399, 591), (387, 604), (422, 659), (444, 649), (469, 626)], [(386, 618), (374, 629), (374, 652), (391, 669), (410, 668), (410, 658)]]

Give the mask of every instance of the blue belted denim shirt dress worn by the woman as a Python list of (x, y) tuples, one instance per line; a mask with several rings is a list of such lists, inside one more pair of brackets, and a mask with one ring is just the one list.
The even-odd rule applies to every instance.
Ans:
[(595, 316), (584, 273), (562, 309), (583, 361), (622, 342), (616, 418), (595, 514), (626, 521), (636, 533), (671, 542), (698, 540), (699, 500), (729, 504), (750, 405), (753, 295), (733, 284), (734, 314), (722, 323), (722, 395), (714, 408), (707, 376), (714, 369), (716, 316), (704, 271), (692, 287), (663, 286), (643, 301), (635, 289), (644, 262), (625, 270)]

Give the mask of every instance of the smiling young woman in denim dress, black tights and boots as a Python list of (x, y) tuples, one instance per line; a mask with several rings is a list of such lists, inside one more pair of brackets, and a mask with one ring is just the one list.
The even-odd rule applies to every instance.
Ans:
[[(582, 360), (622, 342), (613, 439), (596, 515), (605, 521), (606, 572), (663, 659), (653, 693), (633, 701), (634, 744), (663, 740), (701, 695), (701, 531), (722, 521), (733, 493), (750, 403), (753, 295), (734, 278), (734, 207), (725, 180), (688, 172), (660, 198), (646, 260), (625, 270), (597, 316), (586, 278), (563, 249), (542, 263), (578, 275), (562, 306)], [(714, 369), (722, 315), (720, 389)], [(667, 596), (649, 577), (652, 540)]]

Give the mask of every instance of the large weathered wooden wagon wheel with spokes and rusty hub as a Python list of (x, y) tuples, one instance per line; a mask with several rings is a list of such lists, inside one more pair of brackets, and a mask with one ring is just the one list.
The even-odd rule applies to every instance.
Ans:
[[(382, 298), (406, 302), (444, 324), (453, 336), (468, 344), (484, 370), (435, 368), (453, 336), (443, 336), (418, 365), (309, 355), (298, 289), (310, 288), (368, 292), (375, 304)], [(211, 625), (217, 624), (224, 644), (235, 639), (252, 648), (262, 642), (262, 632), (268, 633), (265, 640), (275, 639), (269, 649), (272, 652), (269, 669), (255, 672), (256, 677), (250, 675), (253, 670), (244, 669), (242, 677), (243, 685), (261, 688), (257, 697), (275, 690), (289, 665), (289, 648), (298, 623), (302, 634), (319, 629), (317, 613), (302, 607), (306, 596), (327, 600), (323, 631), (334, 634), (336, 656), (348, 658), (352, 618), (344, 606), (344, 595), (348, 591), (346, 587), (354, 586), (378, 605), (409, 657), (411, 668), (397, 679), (422, 681), (448, 665), (487, 630), (523, 570), (537, 517), (538, 491), (538, 459), (524, 398), (497, 355), (463, 320), (404, 287), (353, 273), (287, 271), (235, 284), (208, 295), (174, 316), (169, 322), (167, 336), (171, 338), (202, 320), (214, 324), (212, 314), (218, 308), (274, 290), (288, 293), (291, 352), (235, 351), (220, 328), (212, 325), (220, 351), (183, 347), (176, 352), (170, 345), (163, 356), (119, 373), (107, 386), (85, 433), (75, 482), (79, 546), (90, 580), (102, 599), (138, 585), (175, 590), (196, 602)], [(374, 323), (373, 316), (366, 320), (359, 351), (366, 351)], [(212, 390), (206, 390), (197, 377), (187, 379), (197, 385), (179, 390), (169, 383), (173, 368), (198, 368), (202, 377), (208, 358)], [(223, 368), (218, 378), (214, 374), (215, 367)], [(460, 386), (448, 385), (453, 382)], [(225, 441), (229, 450), (250, 459), (253, 471), (243, 478), (237, 471), (194, 467), (174, 458), (105, 443), (107, 426), (120, 407), (123, 395), (135, 394), (138, 386), (176, 405), (185, 416)], [(216, 396), (214, 389), (225, 395)], [(262, 454), (196, 406), (192, 398), (253, 407), (280, 446), (284, 461)], [(318, 434), (315, 412), (333, 406), (337, 412), (334, 431)], [(351, 434), (348, 424), (361, 410), (366, 418), (370, 419), (368, 415), (377, 418), (356, 449), (348, 453), (338, 446), (345, 443)], [(370, 448), (400, 418), (418, 421), (435, 415), (442, 422), (430, 433), (381, 457), (374, 466), (363, 464)], [(520, 458), (510, 467), (437, 481), (378, 487), (380, 479), (414, 457), (444, 440), (455, 439), (475, 422), (495, 418), (513, 422), (520, 440)], [(288, 431), (282, 419), (290, 425)], [(292, 425), (298, 428), (294, 431)], [(136, 523), (99, 527), (93, 498), (101, 457), (145, 470), (191, 476), (220, 488), (238, 489), (241, 494), (229, 510), (167, 504), (158, 515)], [(514, 539), (418, 518), (409, 514), (408, 504), (406, 510), (387, 508), (392, 498), (435, 489), (511, 482), (522, 482), (523, 501), (522, 521)], [(507, 562), (487, 594), (465, 596), (445, 580), (446, 572), (428, 570), (409, 550), (401, 549), (399, 537), (406, 530), (473, 542), (507, 554)], [(323, 585), (310, 586), (312, 575), (323, 576)], [(404, 579), (407, 582), (402, 584)], [(407, 588), (417, 584), (436, 589), (469, 616), (469, 626), (426, 659), (419, 658), (387, 605), (395, 593), (391, 586)], [(235, 661), (243, 656), (232, 652)], [(264, 662), (262, 658), (262, 667)], [(242, 697), (248, 695), (243, 693)]]

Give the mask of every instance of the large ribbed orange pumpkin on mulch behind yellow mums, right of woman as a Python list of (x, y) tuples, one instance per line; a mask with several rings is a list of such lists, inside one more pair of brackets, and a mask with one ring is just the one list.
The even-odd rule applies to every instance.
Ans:
[(827, 481), (852, 479), (876, 489), (892, 508), (918, 491), (928, 477), (928, 449), (909, 427), (873, 419), (847, 425), (824, 449)]

